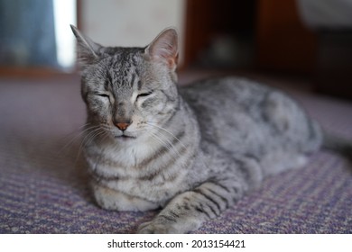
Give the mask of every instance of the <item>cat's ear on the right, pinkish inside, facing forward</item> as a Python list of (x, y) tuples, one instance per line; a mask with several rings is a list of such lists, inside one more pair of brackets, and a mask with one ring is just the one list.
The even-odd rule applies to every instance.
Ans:
[(145, 49), (145, 52), (155, 61), (165, 63), (174, 70), (177, 66), (179, 56), (178, 35), (175, 29), (162, 31), (152, 43)]

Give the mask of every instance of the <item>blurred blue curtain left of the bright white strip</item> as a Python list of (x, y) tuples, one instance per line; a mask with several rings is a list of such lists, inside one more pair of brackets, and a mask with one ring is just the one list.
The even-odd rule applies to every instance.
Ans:
[(58, 67), (52, 0), (0, 0), (0, 65)]

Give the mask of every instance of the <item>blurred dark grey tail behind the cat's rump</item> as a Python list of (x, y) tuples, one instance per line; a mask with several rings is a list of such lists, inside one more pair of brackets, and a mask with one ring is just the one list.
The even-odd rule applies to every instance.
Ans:
[(325, 131), (322, 147), (337, 152), (352, 161), (352, 139), (345, 139)]

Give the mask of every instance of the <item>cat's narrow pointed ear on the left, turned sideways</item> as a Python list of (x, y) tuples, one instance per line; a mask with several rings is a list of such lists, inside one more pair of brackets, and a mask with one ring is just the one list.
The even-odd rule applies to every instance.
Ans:
[(73, 34), (77, 39), (79, 61), (82, 65), (87, 65), (97, 60), (101, 46), (87, 36), (84, 36), (79, 29), (70, 25)]

